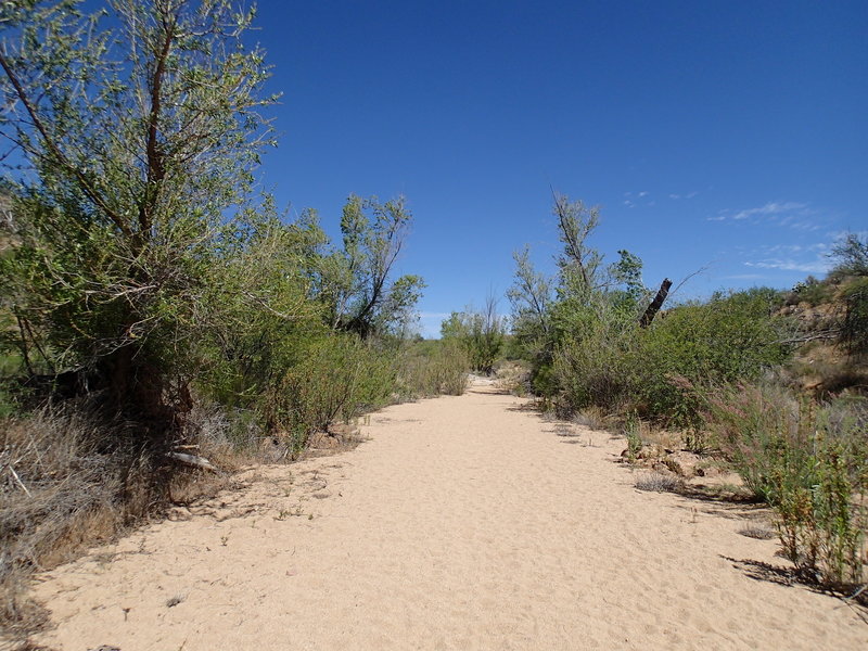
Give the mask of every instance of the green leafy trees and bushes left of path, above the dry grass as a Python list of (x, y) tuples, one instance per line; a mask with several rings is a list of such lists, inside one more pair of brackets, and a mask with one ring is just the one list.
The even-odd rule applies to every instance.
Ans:
[(4, 179), (8, 358), (72, 373), (163, 433), (193, 394), (299, 442), (382, 404), (388, 342), (424, 286), (392, 277), (405, 201), (350, 195), (340, 246), (314, 210), (286, 222), (254, 201), (277, 98), (242, 41), (253, 11), (116, 0), (107, 21), (81, 7), (2, 9), (4, 126), (34, 171)]

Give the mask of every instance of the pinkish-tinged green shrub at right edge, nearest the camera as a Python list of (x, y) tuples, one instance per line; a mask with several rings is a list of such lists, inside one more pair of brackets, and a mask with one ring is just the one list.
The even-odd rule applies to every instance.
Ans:
[(722, 449), (775, 508), (796, 569), (837, 586), (868, 580), (868, 404), (746, 384), (710, 390), (705, 404)]

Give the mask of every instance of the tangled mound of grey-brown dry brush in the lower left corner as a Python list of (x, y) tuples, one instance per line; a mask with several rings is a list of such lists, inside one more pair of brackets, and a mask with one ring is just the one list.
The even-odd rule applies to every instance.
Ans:
[(74, 558), (150, 513), (165, 487), (129, 423), (43, 409), (0, 421), (0, 628), (44, 621), (26, 597), (34, 571)]

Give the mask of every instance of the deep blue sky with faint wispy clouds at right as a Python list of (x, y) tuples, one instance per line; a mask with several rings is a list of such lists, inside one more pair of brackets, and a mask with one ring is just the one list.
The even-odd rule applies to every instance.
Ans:
[(868, 230), (864, 0), (258, 7), (284, 93), (265, 186), (333, 235), (349, 193), (404, 194), (427, 334), (502, 295), (525, 243), (552, 270), (550, 188), (649, 285), (704, 269), (682, 298), (821, 276)]

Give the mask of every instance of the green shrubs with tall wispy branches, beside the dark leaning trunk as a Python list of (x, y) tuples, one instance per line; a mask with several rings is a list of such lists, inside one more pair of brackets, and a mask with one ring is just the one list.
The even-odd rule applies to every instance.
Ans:
[[(537, 272), (525, 248), (514, 255), (508, 295), (513, 347), (531, 362), (531, 386), (561, 413), (589, 406), (636, 410), (695, 433), (700, 404), (677, 378), (752, 379), (787, 358), (788, 324), (776, 316), (784, 296), (771, 289), (716, 293), (667, 310), (648, 328), (643, 314), (652, 293), (642, 284), (641, 260), (620, 251), (616, 263), (603, 265), (588, 242), (599, 212), (557, 194), (554, 200), (564, 245), (556, 258), (558, 277)], [(703, 445), (693, 434), (688, 443)]]

